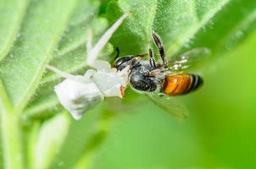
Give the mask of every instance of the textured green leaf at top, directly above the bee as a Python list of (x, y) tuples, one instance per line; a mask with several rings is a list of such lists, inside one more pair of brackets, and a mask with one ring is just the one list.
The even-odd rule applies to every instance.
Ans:
[(107, 13), (112, 23), (121, 12), (131, 10), (132, 15), (111, 42), (124, 55), (145, 53), (155, 30), (168, 56), (195, 46), (220, 53), (220, 47), (231, 49), (253, 30), (255, 7), (253, 0), (112, 1)]

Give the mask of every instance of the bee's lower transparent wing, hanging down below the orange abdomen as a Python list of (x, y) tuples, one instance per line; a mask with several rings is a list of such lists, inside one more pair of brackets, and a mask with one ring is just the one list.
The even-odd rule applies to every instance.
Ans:
[(163, 95), (154, 92), (147, 94), (148, 98), (152, 100), (157, 106), (164, 109), (165, 112), (177, 117), (184, 121), (188, 116), (188, 109), (180, 101), (177, 101), (175, 97), (169, 95)]

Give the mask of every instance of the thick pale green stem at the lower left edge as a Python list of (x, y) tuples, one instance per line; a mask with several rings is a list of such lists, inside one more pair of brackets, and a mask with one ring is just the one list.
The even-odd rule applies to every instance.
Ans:
[(22, 169), (24, 161), (21, 148), (21, 127), (19, 116), (14, 112), (13, 106), (4, 92), (0, 80), (0, 124), (3, 143), (3, 166), (7, 169)]

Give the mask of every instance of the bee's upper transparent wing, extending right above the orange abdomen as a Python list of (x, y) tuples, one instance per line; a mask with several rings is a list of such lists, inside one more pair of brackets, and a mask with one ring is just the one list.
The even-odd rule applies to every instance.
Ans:
[(210, 55), (209, 48), (198, 47), (185, 52), (177, 57), (172, 57), (168, 62), (168, 67), (172, 71), (181, 71), (186, 68), (196, 68)]

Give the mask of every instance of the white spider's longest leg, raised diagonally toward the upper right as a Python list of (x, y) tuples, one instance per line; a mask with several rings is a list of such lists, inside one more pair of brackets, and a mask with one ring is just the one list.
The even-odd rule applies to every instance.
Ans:
[[(122, 24), (122, 22), (125, 20), (125, 18), (127, 18), (129, 16), (129, 14), (131, 14), (131, 12), (126, 12), (125, 14), (123, 14), (120, 19), (118, 19), (114, 25), (112, 25), (109, 30), (107, 30), (102, 37), (97, 41), (96, 45), (92, 47), (92, 49), (90, 49), (90, 43), (87, 40), (88, 43), (88, 52), (87, 52), (87, 58), (86, 58), (86, 63), (88, 66), (91, 66), (92, 68), (95, 68), (95, 61), (97, 60), (97, 55), (99, 54), (99, 52), (103, 49), (103, 47), (108, 43), (109, 39), (111, 38), (111, 36), (114, 34), (115, 30), (117, 30), (120, 25)], [(90, 40), (90, 38), (89, 38)], [(91, 43), (92, 44), (92, 43)]]

